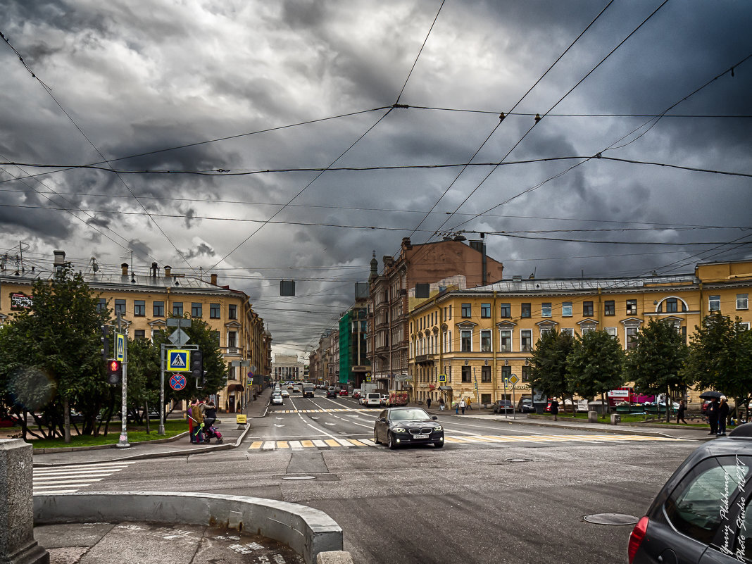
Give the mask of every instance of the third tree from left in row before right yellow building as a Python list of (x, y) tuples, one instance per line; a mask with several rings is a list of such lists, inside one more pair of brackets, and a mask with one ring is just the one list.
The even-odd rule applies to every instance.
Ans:
[(635, 348), (627, 353), (626, 380), (635, 383), (640, 393), (666, 394), (666, 421), (671, 420), (671, 398), (684, 393), (693, 384), (687, 372), (682, 371), (688, 350), (684, 338), (665, 320), (647, 323), (633, 337)]

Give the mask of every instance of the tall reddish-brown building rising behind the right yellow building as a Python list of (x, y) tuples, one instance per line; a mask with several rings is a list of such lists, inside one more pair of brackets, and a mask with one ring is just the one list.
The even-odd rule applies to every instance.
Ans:
[(371, 259), (367, 355), (378, 387), (394, 390), (396, 381), (410, 381), (411, 308), (447, 288), (481, 287), (502, 279), (502, 263), (487, 257), (485, 248), (484, 241), (414, 245), (404, 238), (397, 259), (384, 256), (381, 274), (378, 261)]

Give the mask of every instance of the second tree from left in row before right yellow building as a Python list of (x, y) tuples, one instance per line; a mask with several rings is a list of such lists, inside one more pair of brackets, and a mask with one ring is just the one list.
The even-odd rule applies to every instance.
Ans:
[(589, 331), (575, 338), (567, 364), (572, 391), (586, 398), (601, 396), (601, 405), (605, 404), (606, 391), (624, 384), (624, 351), (605, 331)]

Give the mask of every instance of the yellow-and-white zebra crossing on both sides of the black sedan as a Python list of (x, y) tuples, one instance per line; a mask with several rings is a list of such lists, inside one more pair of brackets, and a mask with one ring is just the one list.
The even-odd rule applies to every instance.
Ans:
[[(679, 438), (670, 437), (650, 437), (642, 435), (462, 435), (462, 436), (444, 436), (445, 444), (470, 445), (470, 444), (509, 444), (509, 443), (566, 443), (566, 442), (585, 442), (585, 443), (604, 443), (620, 441), (681, 441)], [(284, 450), (284, 449), (335, 449), (335, 448), (356, 448), (356, 447), (377, 447), (370, 438), (326, 438), (326, 439), (306, 439), (296, 441), (253, 441), (248, 450)]]

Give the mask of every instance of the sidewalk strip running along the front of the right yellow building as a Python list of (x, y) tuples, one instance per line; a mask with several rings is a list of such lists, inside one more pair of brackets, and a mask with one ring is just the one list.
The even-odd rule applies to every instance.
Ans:
[(453, 409), (445, 408), (444, 411), (440, 411), (438, 405), (432, 403), (431, 408), (426, 408), (426, 405), (416, 405), (429, 412), (432, 415), (449, 415), (457, 418), (473, 418), (473, 419), (485, 419), (493, 421), (502, 421), (509, 423), (510, 425), (523, 425), (523, 426), (538, 426), (541, 428), (556, 428), (556, 429), (570, 429), (576, 431), (597, 431), (616, 433), (619, 435), (653, 435), (670, 438), (681, 438), (687, 441), (708, 441), (715, 438), (709, 435), (709, 426), (695, 427), (695, 426), (679, 426), (679, 425), (666, 425), (658, 423), (617, 423), (617, 425), (610, 425), (608, 423), (588, 423), (587, 415), (582, 414), (583, 417), (577, 420), (570, 419), (569, 417), (559, 417), (554, 421), (550, 415), (535, 415), (535, 414), (520, 414), (515, 413), (504, 415), (495, 414), (490, 409), (478, 409), (476, 407), (471, 410), (465, 409), (465, 414), (462, 412), (455, 414)]

